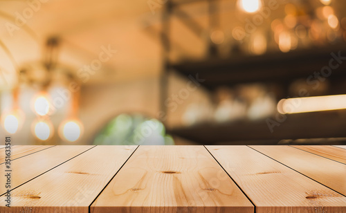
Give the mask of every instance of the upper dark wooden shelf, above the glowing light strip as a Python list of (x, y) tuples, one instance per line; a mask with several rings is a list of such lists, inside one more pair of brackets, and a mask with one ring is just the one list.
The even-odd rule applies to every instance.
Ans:
[[(248, 82), (290, 82), (307, 78), (322, 67), (329, 65), (331, 53), (341, 51), (346, 55), (346, 44), (328, 47), (314, 47), (307, 50), (292, 50), (289, 53), (266, 53), (264, 55), (235, 55), (228, 58), (210, 57), (201, 61), (184, 61), (170, 64), (175, 71), (188, 77), (199, 75), (206, 80), (203, 86), (214, 89), (217, 86)], [(346, 63), (333, 71), (329, 80), (346, 78)]]

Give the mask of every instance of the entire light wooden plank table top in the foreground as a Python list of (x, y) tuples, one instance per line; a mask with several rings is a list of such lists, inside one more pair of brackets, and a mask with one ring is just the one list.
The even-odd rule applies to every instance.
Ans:
[[(346, 212), (346, 146), (13, 146), (0, 212)], [(0, 171), (6, 171), (0, 147)]]

